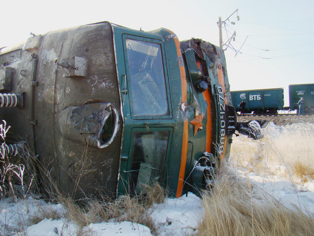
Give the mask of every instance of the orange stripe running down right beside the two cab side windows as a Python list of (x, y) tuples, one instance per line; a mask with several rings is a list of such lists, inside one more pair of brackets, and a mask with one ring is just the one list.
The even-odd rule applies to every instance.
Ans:
[[(175, 35), (172, 31), (168, 30), (169, 33)], [(180, 49), (180, 42), (177, 36), (173, 36), (173, 39), (176, 44), (178, 63), (180, 69), (180, 77), (181, 77), (181, 94), (182, 94), (182, 103), (186, 103), (187, 99), (187, 82), (185, 76), (185, 69), (183, 65), (183, 58)], [(180, 198), (182, 196), (183, 191), (183, 183), (184, 183), (184, 175), (185, 175), (185, 166), (187, 159), (187, 144), (188, 144), (188, 119), (185, 119), (183, 122), (183, 137), (182, 137), (182, 151), (181, 151), (181, 165), (179, 172), (179, 180), (177, 186), (176, 198)]]

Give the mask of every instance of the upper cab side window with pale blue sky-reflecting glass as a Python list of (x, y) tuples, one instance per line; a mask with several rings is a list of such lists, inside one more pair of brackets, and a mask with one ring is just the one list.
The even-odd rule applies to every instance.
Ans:
[(162, 46), (126, 38), (134, 116), (170, 115)]

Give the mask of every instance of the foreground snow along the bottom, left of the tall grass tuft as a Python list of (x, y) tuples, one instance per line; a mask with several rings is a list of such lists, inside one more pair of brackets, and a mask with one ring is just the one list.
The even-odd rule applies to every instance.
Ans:
[[(65, 218), (43, 219), (32, 224), (33, 219), (42, 217), (49, 210), (64, 215), (61, 204), (54, 205), (31, 197), (14, 203), (12, 199), (0, 201), (0, 234), (23, 231), (25, 235), (76, 235), (78, 225)], [(202, 217), (201, 201), (192, 193), (179, 199), (166, 199), (163, 204), (155, 204), (149, 209), (159, 235), (191, 235), (195, 233), (197, 222)], [(5, 231), (4, 225), (10, 230)], [(102, 222), (89, 224), (81, 230), (85, 235), (152, 235), (144, 225), (132, 222)]]

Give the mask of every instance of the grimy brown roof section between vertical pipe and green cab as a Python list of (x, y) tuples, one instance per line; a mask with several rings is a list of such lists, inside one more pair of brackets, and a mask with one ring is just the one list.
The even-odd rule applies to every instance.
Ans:
[[(99, 149), (101, 125), (109, 110), (92, 108), (111, 104), (117, 108), (117, 123), (122, 123), (111, 25), (85, 25), (42, 37), (35, 88), (36, 151), (66, 193), (75, 198), (86, 193), (113, 197), (122, 130)], [(75, 69), (56, 64), (57, 58)], [(60, 119), (62, 114), (68, 118)], [(70, 127), (76, 128), (67, 132)]]

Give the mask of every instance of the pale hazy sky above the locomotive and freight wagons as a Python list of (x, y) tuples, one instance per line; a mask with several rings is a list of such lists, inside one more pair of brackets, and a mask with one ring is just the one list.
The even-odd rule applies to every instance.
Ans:
[[(228, 22), (227, 70), (231, 90), (285, 89), (288, 85), (314, 83), (314, 1), (302, 0), (116, 0), (116, 1), (3, 1), (0, 4), (0, 48), (25, 41), (30, 32), (45, 32), (110, 21), (133, 29), (168, 28), (180, 40), (202, 38), (219, 45), (218, 18)], [(223, 35), (224, 41), (228, 36)], [(266, 51), (269, 50), (269, 51)]]

